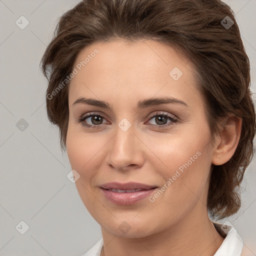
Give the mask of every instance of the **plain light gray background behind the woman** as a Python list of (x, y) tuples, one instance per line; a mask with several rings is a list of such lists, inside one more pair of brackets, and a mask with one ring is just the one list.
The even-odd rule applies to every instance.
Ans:
[[(0, 256), (78, 256), (101, 237), (66, 177), (70, 164), (46, 116), (47, 83), (39, 70), (57, 18), (77, 2), (0, 0)], [(225, 2), (236, 14), (256, 92), (256, 0)], [(15, 23), (21, 15), (29, 21), (24, 29)], [(245, 172), (239, 212), (218, 221), (234, 225), (250, 255), (256, 255), (255, 166), (254, 159)], [(24, 234), (15, 228), (21, 220), (29, 226)]]

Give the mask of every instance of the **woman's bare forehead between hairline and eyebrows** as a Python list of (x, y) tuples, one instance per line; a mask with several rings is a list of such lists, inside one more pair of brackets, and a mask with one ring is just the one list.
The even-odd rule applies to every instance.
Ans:
[(195, 84), (188, 59), (173, 47), (153, 40), (94, 42), (79, 52), (73, 67), (77, 74), (70, 82), (72, 101), (82, 94), (101, 98), (110, 93), (153, 96), (159, 90), (175, 94), (180, 86), (189, 96)]

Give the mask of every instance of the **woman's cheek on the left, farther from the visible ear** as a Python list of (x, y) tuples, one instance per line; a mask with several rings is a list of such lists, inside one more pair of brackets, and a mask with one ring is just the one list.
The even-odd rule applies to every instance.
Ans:
[(75, 182), (80, 197), (87, 207), (94, 203), (91, 192), (97, 185), (97, 176), (102, 164), (102, 150), (109, 138), (99, 136), (96, 133), (82, 132), (82, 128), (70, 124), (66, 136), (66, 151), (72, 169), (75, 169), (80, 177)]

